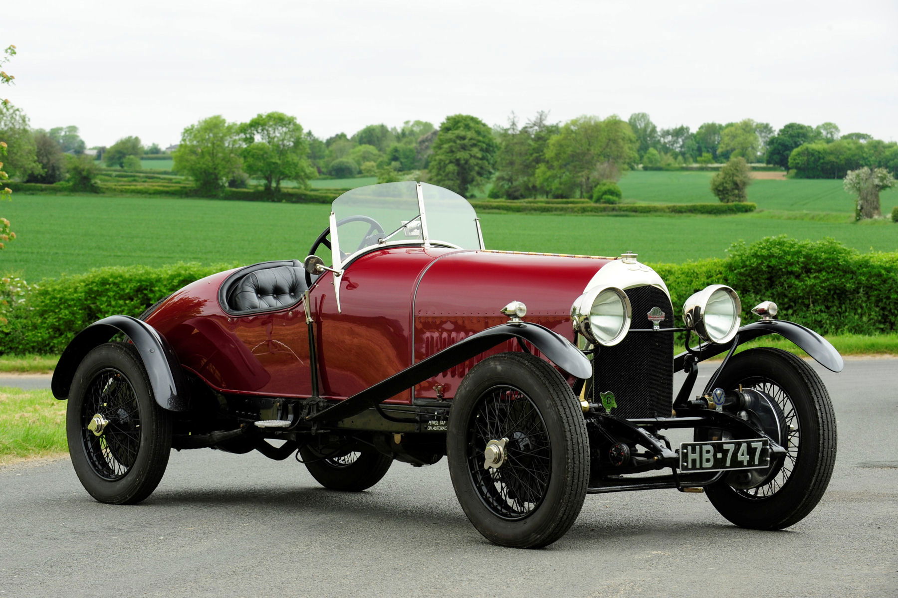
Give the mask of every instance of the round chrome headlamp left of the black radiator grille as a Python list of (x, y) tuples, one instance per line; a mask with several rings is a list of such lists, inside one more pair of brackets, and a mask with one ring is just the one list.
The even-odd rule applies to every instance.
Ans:
[(577, 297), (570, 308), (574, 330), (593, 344), (611, 347), (629, 332), (632, 308), (617, 287), (596, 287)]

